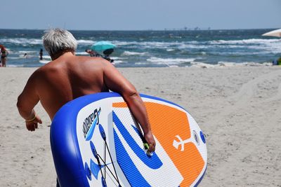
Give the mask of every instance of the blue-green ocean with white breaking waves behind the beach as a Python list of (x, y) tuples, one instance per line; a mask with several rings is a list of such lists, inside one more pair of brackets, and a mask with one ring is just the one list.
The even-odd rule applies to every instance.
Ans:
[[(117, 47), (110, 57), (116, 67), (190, 67), (269, 65), (281, 56), (281, 39), (261, 36), (272, 29), (173, 31), (70, 31), (77, 55), (97, 41)], [(0, 44), (9, 52), (8, 67), (41, 67), (51, 60), (42, 44), (44, 30), (0, 29)], [(44, 60), (39, 62), (39, 50)], [(25, 53), (27, 56), (24, 57)]]

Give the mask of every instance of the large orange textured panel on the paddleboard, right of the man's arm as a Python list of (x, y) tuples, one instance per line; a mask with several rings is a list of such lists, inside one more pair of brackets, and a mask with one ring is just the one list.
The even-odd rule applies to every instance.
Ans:
[(145, 102), (145, 106), (153, 134), (184, 178), (181, 186), (190, 186), (202, 171), (204, 160), (193, 143), (185, 144), (184, 151), (173, 146), (174, 140), (178, 141), (176, 135), (183, 140), (191, 137), (186, 113), (164, 104)]

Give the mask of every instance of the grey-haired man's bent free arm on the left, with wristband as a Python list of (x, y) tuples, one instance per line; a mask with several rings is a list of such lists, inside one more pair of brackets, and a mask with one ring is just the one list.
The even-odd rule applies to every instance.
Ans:
[(36, 91), (36, 78), (34, 77), (34, 74), (30, 76), (17, 102), (20, 116), (25, 119), (27, 130), (30, 131), (34, 131), (38, 127), (38, 123), (42, 123), (34, 111), (34, 106), (39, 102), (39, 96)]

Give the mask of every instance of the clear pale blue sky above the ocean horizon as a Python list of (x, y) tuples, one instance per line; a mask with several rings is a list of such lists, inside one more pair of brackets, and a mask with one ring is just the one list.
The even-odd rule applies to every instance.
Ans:
[(280, 0), (2, 0), (0, 29), (281, 28)]

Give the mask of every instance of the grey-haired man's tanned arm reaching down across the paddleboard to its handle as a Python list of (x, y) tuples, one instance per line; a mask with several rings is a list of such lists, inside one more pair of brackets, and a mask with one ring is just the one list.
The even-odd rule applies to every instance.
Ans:
[[(107, 61), (107, 60), (106, 60)], [(145, 140), (148, 142), (149, 151), (155, 151), (155, 139), (152, 134), (145, 105), (136, 88), (128, 81), (110, 62), (104, 62), (104, 81), (113, 92), (118, 92), (129, 106), (131, 113), (141, 124)]]

